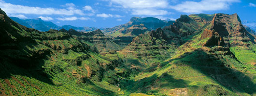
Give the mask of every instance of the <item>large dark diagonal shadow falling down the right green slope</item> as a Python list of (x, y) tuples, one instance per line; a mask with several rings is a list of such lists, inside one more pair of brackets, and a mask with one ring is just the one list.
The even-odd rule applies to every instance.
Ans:
[(170, 60), (176, 66), (190, 66), (193, 69), (211, 77), (214, 81), (237, 93), (256, 93), (256, 84), (252, 78), (244, 73), (225, 65), (217, 55), (206, 53), (199, 48), (193, 52), (185, 53), (180, 58)]

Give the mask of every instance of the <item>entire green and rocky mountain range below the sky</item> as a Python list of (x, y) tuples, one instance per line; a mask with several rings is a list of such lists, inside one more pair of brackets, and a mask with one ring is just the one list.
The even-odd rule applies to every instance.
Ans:
[(237, 13), (41, 32), (0, 10), (0, 96), (255, 96), (253, 32)]

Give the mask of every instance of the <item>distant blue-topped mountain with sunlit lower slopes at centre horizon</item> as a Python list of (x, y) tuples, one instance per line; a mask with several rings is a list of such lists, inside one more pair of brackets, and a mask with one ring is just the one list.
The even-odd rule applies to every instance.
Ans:
[(103, 33), (112, 36), (113, 41), (121, 48), (131, 43), (132, 38), (145, 32), (156, 30), (158, 27), (169, 26), (175, 21), (162, 21), (154, 17), (132, 17), (127, 24), (121, 24), (113, 28), (106, 28)]

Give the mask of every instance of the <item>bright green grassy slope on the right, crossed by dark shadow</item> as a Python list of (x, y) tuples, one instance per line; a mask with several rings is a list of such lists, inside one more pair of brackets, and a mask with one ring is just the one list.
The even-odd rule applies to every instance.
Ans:
[[(202, 26), (200, 30), (210, 28), (211, 24)], [(255, 45), (250, 43), (249, 49), (231, 47), (230, 51), (237, 60), (228, 55), (229, 50), (202, 47), (209, 38), (200, 40), (202, 31), (194, 33), (185, 37), (188, 42), (177, 48), (172, 58), (130, 78), (130, 85), (126, 86), (130, 90), (128, 93), (157, 96), (256, 95), (256, 71), (254, 64), (250, 63), (255, 62)]]

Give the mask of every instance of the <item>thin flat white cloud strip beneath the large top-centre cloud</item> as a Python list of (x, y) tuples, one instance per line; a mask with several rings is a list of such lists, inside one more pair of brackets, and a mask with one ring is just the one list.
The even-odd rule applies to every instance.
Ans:
[(133, 10), (133, 15), (166, 15), (169, 12), (165, 10), (155, 10), (155, 9), (136, 9)]

